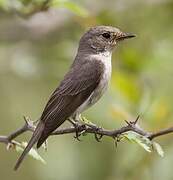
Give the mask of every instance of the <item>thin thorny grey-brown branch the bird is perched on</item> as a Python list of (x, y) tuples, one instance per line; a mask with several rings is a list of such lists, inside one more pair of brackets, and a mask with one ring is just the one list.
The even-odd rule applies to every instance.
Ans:
[[(22, 135), (26, 131), (33, 132), (36, 127), (36, 122), (33, 122), (26, 117), (24, 117), (24, 120), (25, 120), (25, 124), (21, 128), (12, 132), (8, 136), (0, 136), (0, 143), (4, 143), (8, 145), (7, 148), (9, 148), (13, 144), (18, 144), (18, 142), (14, 140), (15, 138)], [(157, 132), (147, 132), (138, 125), (138, 120), (139, 120), (139, 116), (137, 117), (135, 121), (125, 121), (126, 122), (125, 126), (119, 129), (115, 129), (115, 130), (107, 130), (104, 128), (100, 128), (96, 125), (90, 125), (86, 123), (76, 123), (76, 125), (74, 125), (73, 122), (71, 122), (73, 124), (73, 127), (57, 129), (51, 135), (63, 135), (63, 134), (76, 133), (75, 137), (78, 139), (78, 137), (81, 134), (90, 133), (90, 134), (94, 134), (96, 140), (99, 141), (103, 136), (108, 136), (113, 139), (116, 139), (120, 135), (128, 131), (133, 131), (139, 135), (147, 137), (150, 140), (153, 140), (154, 138), (159, 137), (159, 136), (173, 133), (173, 127), (169, 127), (167, 129), (163, 129)]]

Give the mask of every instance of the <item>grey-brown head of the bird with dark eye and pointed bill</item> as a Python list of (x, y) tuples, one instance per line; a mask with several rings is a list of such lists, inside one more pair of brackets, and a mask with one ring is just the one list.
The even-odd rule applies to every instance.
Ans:
[(96, 26), (82, 36), (79, 48), (95, 52), (112, 51), (118, 42), (132, 37), (135, 35), (112, 26)]

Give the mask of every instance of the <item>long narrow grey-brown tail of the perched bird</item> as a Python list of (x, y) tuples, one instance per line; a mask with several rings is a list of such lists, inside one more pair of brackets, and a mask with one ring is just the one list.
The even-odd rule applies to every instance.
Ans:
[(40, 121), (28, 143), (28, 145), (26, 146), (26, 148), (24, 149), (24, 151), (22, 152), (21, 156), (19, 157), (19, 159), (16, 162), (16, 165), (14, 166), (14, 170), (16, 171), (20, 164), (22, 163), (22, 161), (24, 160), (25, 156), (27, 155), (27, 153), (30, 151), (30, 149), (34, 146), (34, 144), (38, 141), (38, 139), (40, 138), (40, 135), (42, 133), (44, 129), (44, 123), (42, 121)]

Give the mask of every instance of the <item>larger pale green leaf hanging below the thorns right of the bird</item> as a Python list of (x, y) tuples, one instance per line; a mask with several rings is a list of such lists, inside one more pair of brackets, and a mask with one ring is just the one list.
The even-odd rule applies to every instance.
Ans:
[(135, 142), (139, 144), (142, 148), (144, 148), (147, 152), (152, 152), (152, 141), (150, 141), (147, 137), (139, 135), (135, 132), (127, 132), (123, 134), (123, 137), (128, 139), (131, 142)]

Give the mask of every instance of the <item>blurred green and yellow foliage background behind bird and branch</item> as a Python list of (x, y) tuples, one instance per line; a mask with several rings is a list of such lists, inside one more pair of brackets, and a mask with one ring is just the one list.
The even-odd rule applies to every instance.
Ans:
[[(172, 0), (0, 0), (0, 134), (37, 119), (50, 93), (72, 63), (81, 35), (94, 25), (111, 25), (137, 38), (122, 42), (113, 54), (111, 86), (84, 115), (113, 129), (141, 115), (149, 131), (173, 124)], [(18, 140), (28, 141), (30, 133)], [(157, 141), (164, 158), (110, 138), (72, 135), (49, 138), (39, 152), (47, 165), (19, 156), (0, 144), (2, 180), (172, 180), (173, 136)]]

